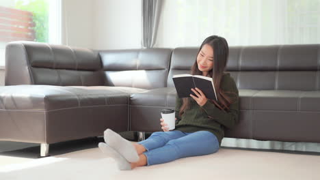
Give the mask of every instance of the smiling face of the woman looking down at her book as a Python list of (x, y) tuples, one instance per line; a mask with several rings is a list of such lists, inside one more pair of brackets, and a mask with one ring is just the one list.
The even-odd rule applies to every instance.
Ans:
[(202, 76), (207, 76), (208, 72), (213, 68), (213, 48), (208, 44), (202, 46), (197, 57), (198, 69), (202, 72)]

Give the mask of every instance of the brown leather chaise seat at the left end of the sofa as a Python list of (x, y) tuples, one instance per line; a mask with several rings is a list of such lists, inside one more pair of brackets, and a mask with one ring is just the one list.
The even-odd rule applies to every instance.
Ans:
[(128, 87), (16, 85), (0, 89), (0, 138), (54, 143), (129, 130)]

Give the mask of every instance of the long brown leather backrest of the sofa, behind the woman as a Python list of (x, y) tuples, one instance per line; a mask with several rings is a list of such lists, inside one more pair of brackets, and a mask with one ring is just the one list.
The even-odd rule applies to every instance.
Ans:
[[(38, 42), (6, 46), (5, 85), (174, 87), (198, 47), (90, 50)], [(170, 67), (170, 69), (169, 69)], [(227, 72), (239, 89), (320, 90), (320, 44), (231, 46)]]

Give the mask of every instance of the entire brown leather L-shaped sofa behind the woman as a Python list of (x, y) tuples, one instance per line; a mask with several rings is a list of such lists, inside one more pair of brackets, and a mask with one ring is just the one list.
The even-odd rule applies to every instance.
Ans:
[[(49, 144), (116, 132), (161, 131), (174, 108), (172, 76), (198, 48), (90, 50), (38, 42), (6, 46), (0, 140)], [(226, 137), (320, 142), (320, 45), (232, 46), (239, 124)]]

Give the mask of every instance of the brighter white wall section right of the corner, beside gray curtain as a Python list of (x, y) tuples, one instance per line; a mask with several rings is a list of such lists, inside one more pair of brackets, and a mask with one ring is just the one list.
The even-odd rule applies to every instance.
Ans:
[(94, 49), (141, 48), (141, 0), (94, 1)]

